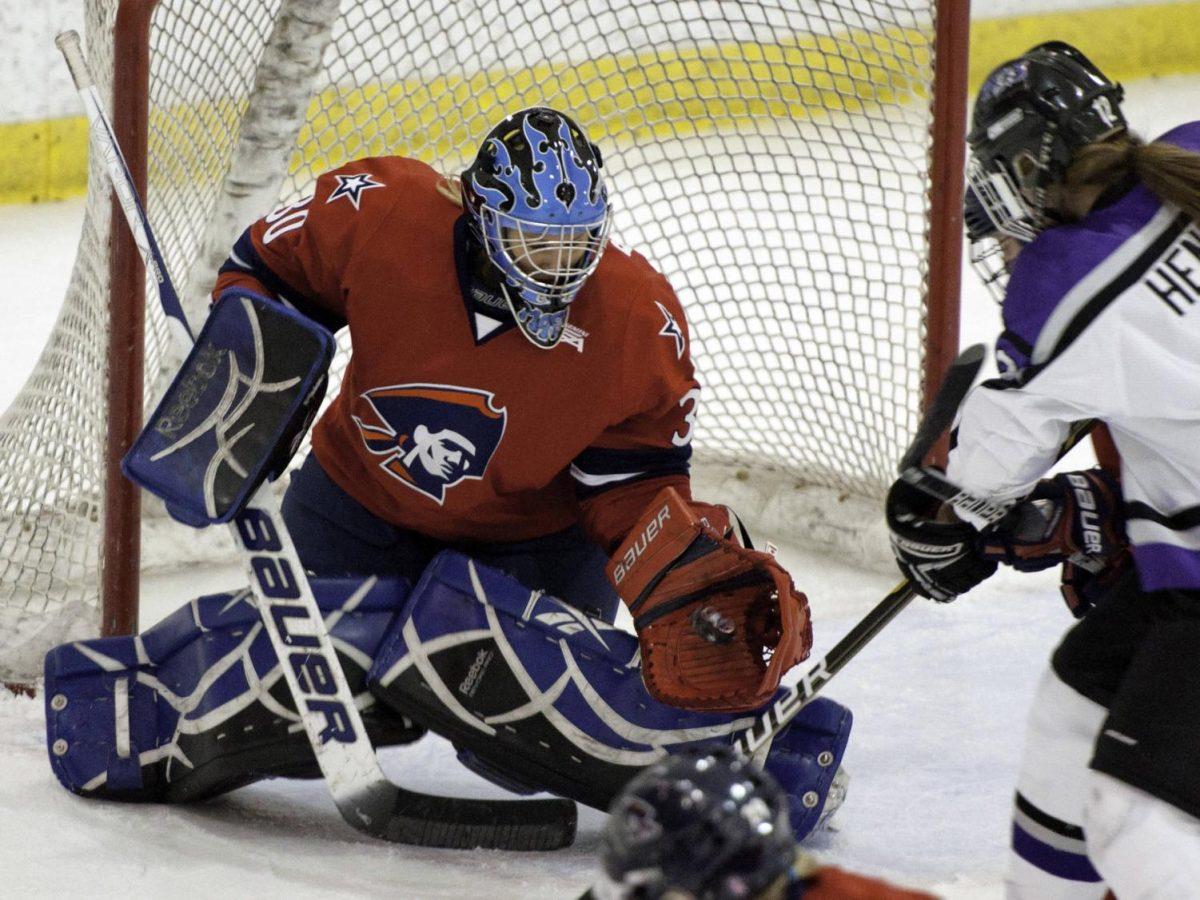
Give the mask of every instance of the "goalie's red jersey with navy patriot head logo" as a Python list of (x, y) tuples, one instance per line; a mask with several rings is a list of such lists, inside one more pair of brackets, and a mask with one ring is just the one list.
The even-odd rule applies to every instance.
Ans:
[(606, 550), (665, 485), (686, 493), (698, 385), (674, 292), (610, 246), (553, 349), (473, 274), (462, 209), (401, 157), (323, 175), (251, 226), (217, 278), (349, 326), (313, 452), (376, 516), (445, 541), (582, 522)]

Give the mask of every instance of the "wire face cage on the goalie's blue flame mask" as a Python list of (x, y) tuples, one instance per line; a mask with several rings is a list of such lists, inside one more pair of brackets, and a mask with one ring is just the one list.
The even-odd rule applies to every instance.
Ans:
[[(480, 210), (487, 254), (527, 304), (556, 312), (595, 271), (612, 216), (590, 224), (532, 224), (491, 206)], [(551, 263), (550, 265), (547, 263)]]

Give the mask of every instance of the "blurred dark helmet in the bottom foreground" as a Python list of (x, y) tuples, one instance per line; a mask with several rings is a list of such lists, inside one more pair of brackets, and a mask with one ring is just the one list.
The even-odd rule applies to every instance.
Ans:
[(608, 810), (592, 895), (754, 898), (785, 875), (796, 839), (782, 788), (728, 746), (686, 750), (636, 775)]

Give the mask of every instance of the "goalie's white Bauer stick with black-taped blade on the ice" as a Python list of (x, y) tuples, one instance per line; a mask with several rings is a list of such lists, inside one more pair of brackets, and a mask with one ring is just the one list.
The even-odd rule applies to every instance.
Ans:
[[(163, 312), (185, 348), (193, 335), (158, 252), (128, 167), (88, 70), (79, 35), (55, 38), (88, 110), (94, 146), (103, 156), (146, 268), (158, 283)], [(384, 775), (354, 703), (346, 673), (313, 599), (304, 566), (265, 486), (230, 523), (234, 542), (271, 646), (338, 811), (355, 829), (384, 840), (432, 847), (554, 850), (575, 835), (575, 804), (566, 799), (479, 800), (433, 797), (394, 785)]]

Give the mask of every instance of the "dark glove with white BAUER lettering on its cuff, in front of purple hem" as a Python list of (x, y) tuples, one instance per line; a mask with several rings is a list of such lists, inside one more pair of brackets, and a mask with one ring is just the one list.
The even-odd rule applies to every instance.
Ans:
[(1043, 479), (983, 539), (984, 554), (1019, 571), (1072, 563), (1102, 570), (1127, 546), (1121, 485), (1104, 469)]

